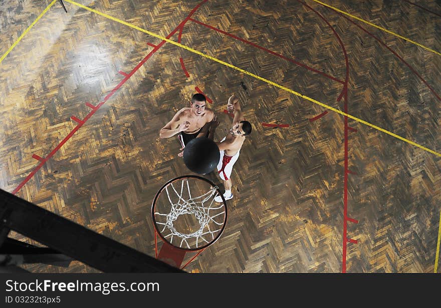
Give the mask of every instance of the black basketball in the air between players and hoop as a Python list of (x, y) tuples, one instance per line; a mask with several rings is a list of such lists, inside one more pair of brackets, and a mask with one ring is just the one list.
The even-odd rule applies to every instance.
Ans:
[(194, 138), (184, 147), (184, 163), (199, 174), (211, 172), (219, 162), (219, 147), (207, 137)]

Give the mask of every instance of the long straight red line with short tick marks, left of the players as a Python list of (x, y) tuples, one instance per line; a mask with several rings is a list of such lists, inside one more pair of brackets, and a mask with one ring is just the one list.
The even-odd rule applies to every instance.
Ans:
[[(173, 31), (171, 31), (170, 34), (166, 36), (166, 38), (168, 39), (171, 36), (173, 36), (173, 34), (176, 33), (179, 27), (183, 26), (183, 24), (186, 21), (188, 21), (190, 16), (199, 8), (199, 6), (205, 3), (206, 1), (207, 0), (203, 0), (199, 4), (197, 4), (191, 10), (188, 16), (181, 23), (179, 23), (179, 25)], [(35, 175), (35, 173), (37, 173), (37, 171), (41, 169), (41, 167), (46, 163), (46, 161), (48, 161), (63, 146), (63, 144), (66, 143), (66, 141), (69, 140), (72, 137), (72, 135), (95, 113), (95, 111), (97, 111), (121, 87), (121, 85), (123, 85), (135, 73), (135, 71), (137, 71), (139, 67), (141, 67), (141, 65), (144, 64), (164, 43), (165, 40), (161, 41), (158, 45), (156, 45), (154, 49), (150, 51), (145, 56), (145, 58), (142, 59), (141, 62), (139, 62), (138, 65), (136, 65), (135, 68), (133, 68), (132, 71), (129, 74), (127, 74), (127, 76), (125, 76), (124, 79), (121, 80), (121, 82), (119, 82), (118, 85), (114, 87), (112, 91), (106, 95), (104, 100), (101, 101), (97, 106), (93, 106), (92, 104), (87, 102), (86, 105), (92, 108), (92, 110), (84, 117), (82, 123), (78, 123), (78, 125), (75, 126), (74, 129), (72, 129), (72, 131), (69, 132), (69, 134), (45, 158), (43, 158), (43, 160), (41, 160), (40, 164), (38, 164), (31, 171), (31, 173), (28, 174), (28, 176), (13, 190), (12, 193), (16, 194)]]

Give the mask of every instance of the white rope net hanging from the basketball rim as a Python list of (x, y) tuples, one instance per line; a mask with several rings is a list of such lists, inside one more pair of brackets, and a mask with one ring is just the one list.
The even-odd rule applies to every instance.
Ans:
[[(186, 183), (186, 190), (188, 191), (188, 199), (183, 197), (184, 192), (184, 182)], [(168, 187), (171, 186), (172, 191), (168, 191)], [(188, 179), (183, 178), (181, 182), (180, 192), (176, 191), (173, 186), (173, 182), (165, 187), (167, 192), (167, 197), (170, 202), (170, 212), (160, 213), (155, 211), (155, 215), (165, 216), (165, 222), (159, 222), (156, 220), (156, 224), (163, 225), (160, 233), (167, 238), (170, 243), (173, 243), (173, 237), (177, 237), (179, 243), (177, 246), (184, 248), (194, 248), (190, 247), (189, 242), (193, 245), (195, 242), (196, 248), (209, 243), (212, 241), (217, 233), (222, 230), (225, 222), (225, 205), (224, 203), (213, 204), (214, 198), (218, 195), (217, 186), (211, 187), (210, 190), (198, 196), (191, 196), (190, 186), (188, 184)], [(170, 194), (173, 193), (178, 197), (177, 203), (171, 200)], [(174, 222), (180, 215), (191, 214), (194, 215), (199, 223), (199, 229), (186, 234), (176, 230)], [(164, 235), (165, 233), (169, 234)], [(165, 232), (165, 233), (164, 233)], [(207, 238), (209, 240), (207, 240)]]

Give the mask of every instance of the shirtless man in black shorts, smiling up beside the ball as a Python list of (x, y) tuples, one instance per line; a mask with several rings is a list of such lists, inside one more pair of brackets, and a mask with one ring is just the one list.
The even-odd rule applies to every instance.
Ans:
[(208, 136), (210, 122), (215, 120), (213, 110), (206, 108), (205, 96), (196, 93), (191, 97), (190, 107), (184, 107), (176, 112), (173, 118), (165, 124), (159, 131), (159, 138), (170, 138), (178, 135), (181, 143), (181, 152), (178, 156), (184, 154), (184, 147), (190, 140)]

